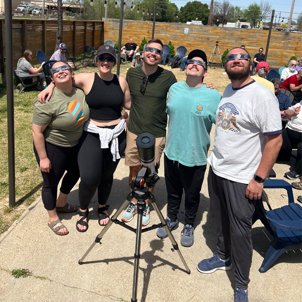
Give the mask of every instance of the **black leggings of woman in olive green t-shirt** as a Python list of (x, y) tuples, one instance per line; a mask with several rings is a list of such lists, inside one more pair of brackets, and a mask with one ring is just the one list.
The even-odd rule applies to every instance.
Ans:
[[(77, 148), (60, 147), (45, 141), (47, 157), (50, 160), (51, 168), (49, 173), (41, 172), (43, 177), (42, 201), (46, 210), (53, 210), (56, 205), (58, 184), (65, 174), (60, 191), (69, 194), (80, 178), (80, 171), (77, 161)], [(34, 153), (40, 167), (40, 158), (34, 144)]]

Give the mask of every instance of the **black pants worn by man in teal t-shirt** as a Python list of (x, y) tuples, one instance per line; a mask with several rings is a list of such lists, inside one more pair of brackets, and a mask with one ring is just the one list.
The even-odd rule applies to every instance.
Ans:
[(194, 226), (206, 165), (187, 167), (179, 162), (169, 160), (166, 154), (164, 165), (168, 193), (167, 215), (171, 221), (176, 221), (184, 190), (185, 224)]

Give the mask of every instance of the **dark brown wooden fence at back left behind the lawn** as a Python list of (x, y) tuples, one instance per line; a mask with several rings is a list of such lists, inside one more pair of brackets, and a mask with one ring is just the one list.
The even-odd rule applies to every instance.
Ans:
[[(56, 42), (56, 20), (13, 19), (13, 61), (14, 68), (23, 52), (29, 49), (33, 53), (31, 64), (38, 64), (37, 50), (42, 50), (49, 59), (54, 52)], [(96, 49), (104, 44), (103, 21), (63, 21), (62, 41), (74, 57), (84, 52), (84, 46)], [(5, 20), (0, 18), (0, 70), (2, 82), (5, 82)]]

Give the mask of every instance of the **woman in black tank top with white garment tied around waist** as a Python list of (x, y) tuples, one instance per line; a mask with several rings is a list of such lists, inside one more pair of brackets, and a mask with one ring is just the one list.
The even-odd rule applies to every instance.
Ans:
[[(108, 147), (101, 148), (101, 134), (121, 128), (124, 119), (121, 117), (122, 107), (130, 109), (130, 92), (125, 78), (111, 72), (116, 64), (115, 49), (108, 45), (99, 47), (95, 58), (98, 72), (79, 73), (73, 76), (72, 85), (81, 88), (86, 95), (86, 102), (90, 108), (90, 126), (84, 128), (83, 136), (79, 142), (78, 163), (81, 182), (79, 185), (80, 216), (76, 228), (79, 232), (88, 230), (88, 206), (98, 189), (99, 224), (105, 225), (109, 221), (108, 205), (113, 183), (113, 174), (119, 163), (120, 156), (126, 148), (126, 133), (120, 134), (115, 141), (110, 141)], [(53, 85), (47, 87), (41, 97), (51, 96)], [(121, 123), (121, 124), (120, 124)], [(90, 127), (89, 126), (89, 127)], [(97, 129), (97, 130), (95, 130)], [(98, 130), (99, 129), (99, 130)], [(115, 133), (115, 132), (113, 132)], [(113, 136), (114, 137), (114, 136)], [(112, 144), (118, 144), (118, 154), (112, 154)]]

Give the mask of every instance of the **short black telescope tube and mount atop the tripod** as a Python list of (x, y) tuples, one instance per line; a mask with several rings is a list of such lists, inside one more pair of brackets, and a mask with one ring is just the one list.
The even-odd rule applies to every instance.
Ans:
[[(160, 179), (158, 176), (158, 163), (155, 164), (155, 137), (150, 133), (141, 133), (136, 138), (136, 145), (141, 161), (140, 171), (132, 177), (130, 188), (137, 189), (152, 188)], [(146, 185), (144, 187), (144, 185)]]

